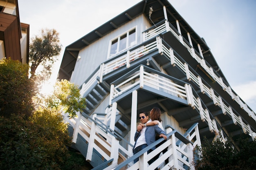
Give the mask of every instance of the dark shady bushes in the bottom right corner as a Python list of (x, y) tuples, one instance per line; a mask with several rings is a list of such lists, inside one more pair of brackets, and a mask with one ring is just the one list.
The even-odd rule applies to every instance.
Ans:
[(240, 152), (234, 149), (231, 139), (223, 142), (220, 137), (198, 148), (196, 170), (254, 170), (256, 169), (256, 141), (240, 140)]

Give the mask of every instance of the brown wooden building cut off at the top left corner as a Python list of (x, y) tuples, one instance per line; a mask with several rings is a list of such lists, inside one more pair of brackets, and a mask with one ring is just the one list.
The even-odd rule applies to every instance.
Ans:
[(29, 24), (20, 22), (18, 0), (0, 0), (0, 60), (29, 61)]

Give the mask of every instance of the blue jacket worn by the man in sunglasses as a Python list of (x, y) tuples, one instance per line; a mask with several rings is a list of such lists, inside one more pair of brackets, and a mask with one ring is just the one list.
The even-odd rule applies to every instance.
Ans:
[[(145, 138), (146, 138), (146, 143), (147, 145), (149, 146), (150, 144), (152, 144), (153, 142), (155, 142), (155, 135), (156, 134), (164, 134), (166, 135), (166, 133), (161, 129), (159, 128), (158, 125), (155, 125), (155, 126), (146, 126), (146, 130), (145, 130)], [(133, 150), (135, 149), (135, 145), (136, 145), (136, 142), (137, 142), (137, 139), (139, 138), (140, 136), (140, 132), (138, 132), (136, 130), (136, 133), (135, 133), (135, 136), (134, 136), (134, 141), (135, 141), (135, 144), (133, 146)], [(153, 148), (151, 148), (152, 150), (155, 149), (155, 146)]]

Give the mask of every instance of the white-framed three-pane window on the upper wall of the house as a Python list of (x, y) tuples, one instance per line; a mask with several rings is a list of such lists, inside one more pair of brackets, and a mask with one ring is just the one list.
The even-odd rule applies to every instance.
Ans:
[(110, 57), (136, 44), (136, 29), (132, 29), (111, 41)]

